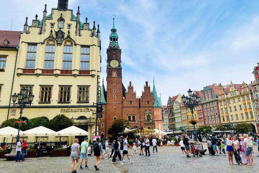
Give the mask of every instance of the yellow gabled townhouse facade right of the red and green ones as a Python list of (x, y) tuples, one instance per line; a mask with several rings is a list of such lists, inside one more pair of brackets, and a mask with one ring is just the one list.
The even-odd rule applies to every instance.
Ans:
[(252, 92), (245, 82), (229, 87), (219, 85), (218, 105), (222, 124), (251, 123), (256, 127), (253, 109)]

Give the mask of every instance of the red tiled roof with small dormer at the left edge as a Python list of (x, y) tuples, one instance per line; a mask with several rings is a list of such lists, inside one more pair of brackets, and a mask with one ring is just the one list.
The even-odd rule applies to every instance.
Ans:
[[(0, 47), (17, 47), (20, 44), (21, 31), (1, 31), (0, 30)], [(5, 39), (9, 41), (4, 44)]]

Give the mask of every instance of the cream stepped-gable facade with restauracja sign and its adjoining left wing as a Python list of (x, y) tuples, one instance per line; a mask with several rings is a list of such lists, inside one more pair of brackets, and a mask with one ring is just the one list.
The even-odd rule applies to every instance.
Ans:
[(0, 123), (20, 116), (19, 109), (8, 106), (11, 86), (12, 94), (26, 87), (35, 97), (32, 106), (23, 110), (23, 120), (34, 117), (50, 120), (65, 114), (74, 124), (83, 125), (92, 139), (96, 110), (93, 103), (97, 102), (100, 88), (100, 51), (99, 25), (96, 29), (94, 22), (90, 28), (87, 18), (81, 22), (79, 6), (74, 15), (68, 9), (68, 0), (58, 1), (58, 7), (48, 15), (45, 5), (43, 19), (37, 19), (36, 15), (29, 26), (26, 18), (13, 85), (9, 76), (13, 74), (16, 51), (6, 61), (8, 72), (1, 74), (5, 79), (1, 77), (0, 84), (6, 85), (2, 85), (5, 94), (1, 94)]

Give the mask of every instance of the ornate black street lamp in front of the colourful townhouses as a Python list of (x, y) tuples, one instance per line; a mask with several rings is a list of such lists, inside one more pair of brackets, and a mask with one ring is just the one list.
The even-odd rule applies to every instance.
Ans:
[[(193, 94), (193, 91), (191, 89), (189, 89), (188, 91), (188, 96), (182, 96), (182, 102), (184, 104), (184, 106), (190, 108), (191, 110), (191, 113), (192, 113), (192, 117), (193, 117), (193, 109), (198, 106), (199, 102), (200, 102), (200, 96), (196, 95), (196, 94)], [(194, 117), (193, 117), (194, 119)], [(196, 122), (197, 123), (197, 122)], [(197, 141), (197, 133), (196, 133), (196, 130), (195, 130), (195, 122), (193, 122), (193, 129), (194, 129), (194, 132), (193, 132), (193, 135), (194, 135), (194, 140)]]

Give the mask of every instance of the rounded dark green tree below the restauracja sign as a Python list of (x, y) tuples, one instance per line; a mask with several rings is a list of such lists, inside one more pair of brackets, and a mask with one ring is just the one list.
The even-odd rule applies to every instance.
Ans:
[(64, 128), (68, 128), (73, 125), (72, 120), (70, 120), (66, 115), (64, 114), (58, 114), (53, 119), (51, 119), (48, 123), (48, 128), (54, 131), (59, 131)]

